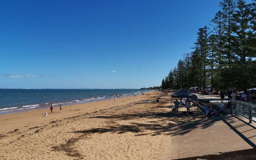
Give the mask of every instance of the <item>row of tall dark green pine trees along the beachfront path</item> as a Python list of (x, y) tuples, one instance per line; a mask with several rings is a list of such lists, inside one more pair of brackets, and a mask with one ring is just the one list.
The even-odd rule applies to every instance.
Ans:
[(163, 89), (212, 84), (215, 90), (256, 85), (256, 0), (223, 0), (211, 24), (199, 28), (193, 52), (162, 80)]

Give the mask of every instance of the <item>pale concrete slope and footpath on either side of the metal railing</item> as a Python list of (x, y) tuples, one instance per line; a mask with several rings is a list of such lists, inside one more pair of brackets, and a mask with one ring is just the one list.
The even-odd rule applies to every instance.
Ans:
[[(220, 98), (208, 99), (214, 106)], [(167, 159), (256, 159), (256, 126), (238, 115), (188, 121), (173, 128)]]

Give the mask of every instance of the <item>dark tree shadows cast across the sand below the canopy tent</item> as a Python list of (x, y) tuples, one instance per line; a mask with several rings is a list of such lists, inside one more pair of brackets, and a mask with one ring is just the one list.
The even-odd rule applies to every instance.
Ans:
[[(115, 122), (121, 120), (138, 120), (148, 119), (146, 123), (130, 122), (129, 125), (110, 125), (106, 128), (92, 128), (89, 130), (74, 131), (75, 133), (93, 134), (93, 133), (136, 133), (135, 136), (141, 135), (184, 135), (195, 128), (208, 128), (217, 121), (223, 119), (223, 116), (215, 118), (204, 118), (203, 115), (185, 115), (182, 112), (144, 112), (140, 114), (121, 114), (95, 116), (90, 118), (111, 119)], [(231, 120), (231, 119), (230, 119)], [(232, 122), (232, 120), (230, 121)]]

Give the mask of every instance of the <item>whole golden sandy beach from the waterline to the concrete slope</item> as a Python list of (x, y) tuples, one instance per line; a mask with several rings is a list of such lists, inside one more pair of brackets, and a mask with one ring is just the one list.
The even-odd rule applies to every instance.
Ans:
[(170, 96), (157, 96), (0, 115), (0, 159), (169, 159), (174, 127), (199, 117), (171, 114)]

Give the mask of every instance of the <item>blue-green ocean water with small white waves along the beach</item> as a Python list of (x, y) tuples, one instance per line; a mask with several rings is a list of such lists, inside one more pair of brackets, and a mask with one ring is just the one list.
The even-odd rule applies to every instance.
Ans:
[(0, 89), (0, 114), (134, 96), (140, 89)]

